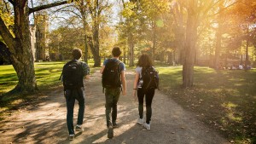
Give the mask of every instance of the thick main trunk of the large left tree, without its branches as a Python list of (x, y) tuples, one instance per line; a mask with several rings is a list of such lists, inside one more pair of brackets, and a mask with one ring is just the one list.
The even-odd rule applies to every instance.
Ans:
[(32, 55), (31, 37), (29, 31), (27, 3), (22, 7), (22, 1), (16, 1), (20, 7), (15, 9), (15, 52), (12, 52), (11, 59), (15, 72), (19, 79), (15, 89), (28, 93), (37, 88), (34, 71), (34, 59)]

